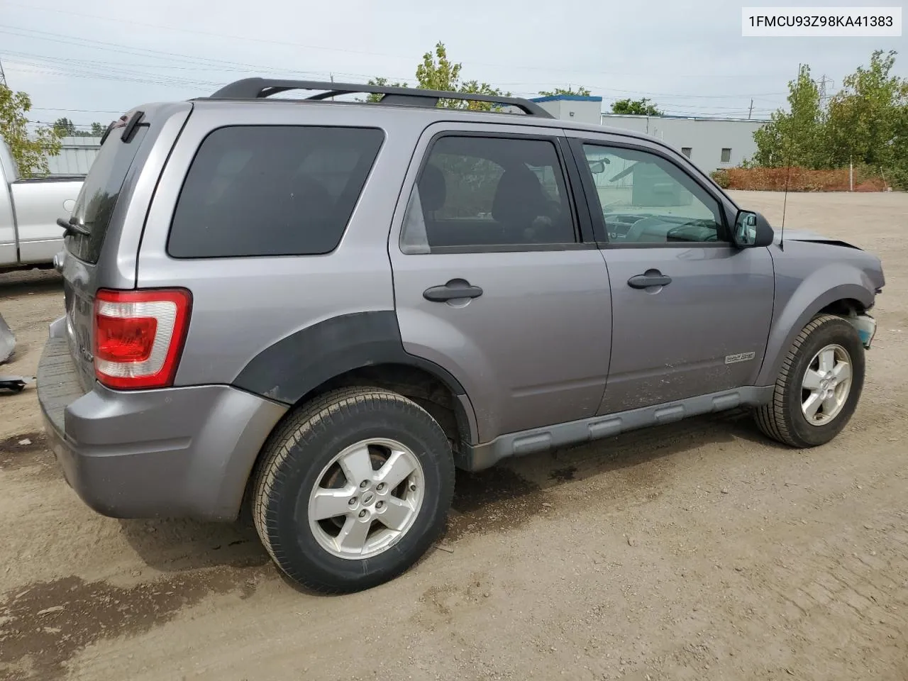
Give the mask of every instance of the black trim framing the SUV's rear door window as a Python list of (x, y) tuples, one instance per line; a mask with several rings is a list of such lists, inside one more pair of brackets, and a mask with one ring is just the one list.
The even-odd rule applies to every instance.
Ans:
[[(432, 155), (432, 150), (435, 148), (435, 144), (439, 141), (439, 139), (443, 137), (488, 137), (491, 139), (527, 140), (530, 142), (535, 141), (550, 143), (555, 149), (555, 154), (558, 157), (558, 164), (561, 169), (561, 175), (564, 179), (566, 192), (565, 199), (568, 202), (568, 207), (571, 212), (571, 225), (574, 230), (574, 238), (576, 241), (561, 243), (502, 243), (469, 246), (437, 246), (434, 248), (429, 246), (428, 253), (404, 252), (402, 241), (404, 234), (404, 225), (407, 218), (407, 211), (410, 208), (410, 198), (413, 195), (413, 191), (419, 186), (419, 178), (422, 176), (422, 171), (425, 169), (426, 165), (429, 164), (429, 158)], [(425, 149), (422, 152), (422, 158), (419, 159), (419, 166), (417, 167), (416, 173), (414, 173), (413, 175), (413, 180), (410, 183), (410, 186), (406, 188), (408, 190), (406, 192), (407, 198), (403, 202), (402, 221), (400, 222), (400, 231), (397, 238), (398, 249), (400, 250), (400, 253), (405, 256), (425, 257), (427, 255), (448, 255), (455, 253), (586, 251), (589, 249), (598, 248), (593, 232), (593, 223), (589, 220), (588, 215), (586, 216), (587, 220), (584, 221), (582, 217), (584, 211), (581, 210), (580, 206), (577, 204), (577, 191), (571, 183), (571, 173), (569, 170), (570, 163), (568, 162), (568, 159), (570, 163), (576, 163), (574, 155), (573, 153), (571, 153), (569, 147), (565, 143), (564, 138), (557, 135), (545, 133), (505, 133), (499, 132), (497, 130), (439, 130), (439, 132), (434, 133), (426, 143)], [(582, 186), (582, 178), (575, 177), (575, 182), (577, 182), (577, 179), (579, 179)]]

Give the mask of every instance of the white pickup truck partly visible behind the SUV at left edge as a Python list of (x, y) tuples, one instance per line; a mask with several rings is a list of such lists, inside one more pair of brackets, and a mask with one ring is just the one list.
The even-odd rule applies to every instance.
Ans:
[(50, 268), (63, 249), (58, 218), (73, 211), (84, 177), (19, 177), (0, 138), (0, 271)]

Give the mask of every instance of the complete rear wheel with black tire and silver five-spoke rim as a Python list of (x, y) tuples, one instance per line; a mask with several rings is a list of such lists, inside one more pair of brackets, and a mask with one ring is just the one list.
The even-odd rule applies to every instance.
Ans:
[(253, 520), (288, 577), (321, 592), (397, 577), (444, 528), (454, 465), (444, 431), (379, 388), (335, 390), (265, 445)]

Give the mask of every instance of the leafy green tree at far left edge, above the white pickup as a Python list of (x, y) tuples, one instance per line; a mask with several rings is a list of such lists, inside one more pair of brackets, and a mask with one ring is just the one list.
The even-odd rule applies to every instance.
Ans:
[(60, 133), (54, 128), (41, 126), (28, 133), (25, 114), (31, 108), (32, 100), (27, 94), (14, 93), (0, 84), (0, 137), (9, 146), (23, 177), (47, 174), (47, 156), (60, 153)]

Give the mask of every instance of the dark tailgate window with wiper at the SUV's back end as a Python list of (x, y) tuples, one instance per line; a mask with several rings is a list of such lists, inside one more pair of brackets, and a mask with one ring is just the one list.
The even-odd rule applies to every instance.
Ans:
[(101, 255), (104, 235), (110, 226), (117, 199), (120, 198), (123, 181), (133, 164), (135, 154), (142, 146), (148, 126), (140, 125), (136, 128), (128, 143), (120, 139), (120, 132), (114, 131), (102, 144), (75, 200), (73, 218), (84, 224), (91, 233), (66, 237), (67, 250), (79, 260), (92, 264), (98, 262)]

